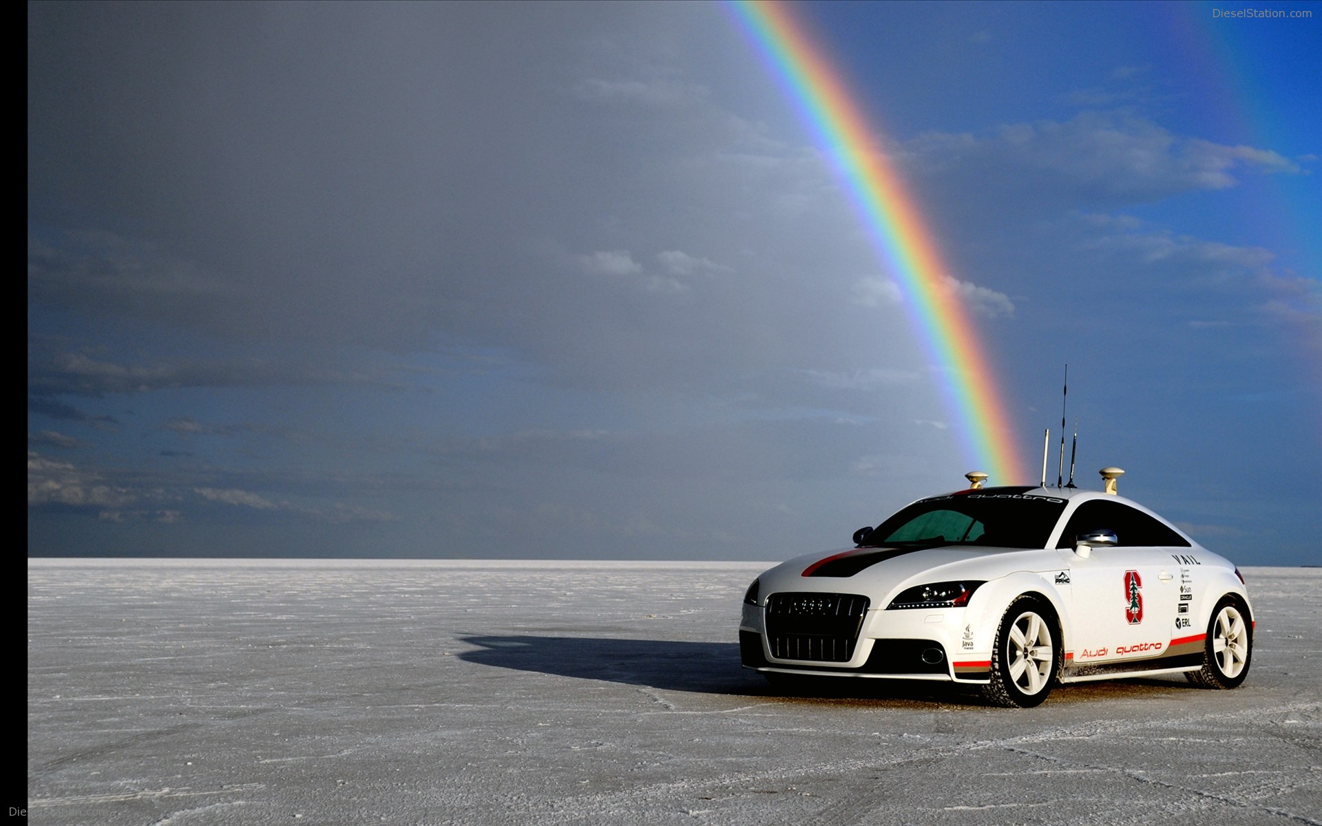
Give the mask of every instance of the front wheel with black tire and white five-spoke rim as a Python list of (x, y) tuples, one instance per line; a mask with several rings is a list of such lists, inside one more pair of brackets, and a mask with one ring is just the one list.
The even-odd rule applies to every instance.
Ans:
[(1039, 599), (1010, 603), (992, 649), (992, 682), (982, 695), (1006, 708), (1040, 706), (1060, 671), (1060, 632), (1056, 615)]

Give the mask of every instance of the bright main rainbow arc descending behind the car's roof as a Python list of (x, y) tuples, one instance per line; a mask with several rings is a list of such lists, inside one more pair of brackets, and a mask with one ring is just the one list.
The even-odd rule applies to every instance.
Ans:
[(1035, 480), (1015, 448), (995, 373), (968, 309), (949, 287), (953, 282), (936, 242), (895, 169), (876, 151), (839, 73), (795, 21), (788, 4), (727, 0), (727, 8), (838, 165), (878, 254), (900, 285), (928, 358), (940, 367), (969, 459), (990, 473), (992, 484)]

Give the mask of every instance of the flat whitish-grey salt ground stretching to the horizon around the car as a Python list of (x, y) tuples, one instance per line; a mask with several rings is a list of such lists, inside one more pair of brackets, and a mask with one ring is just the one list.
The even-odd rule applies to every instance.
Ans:
[(28, 563), (34, 823), (1322, 823), (1322, 570), (1252, 673), (781, 696), (760, 563)]

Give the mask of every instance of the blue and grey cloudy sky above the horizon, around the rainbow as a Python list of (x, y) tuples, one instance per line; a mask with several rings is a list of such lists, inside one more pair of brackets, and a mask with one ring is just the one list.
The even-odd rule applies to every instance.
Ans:
[(1081, 486), (1322, 563), (1319, 11), (788, 8), (969, 377), (736, 7), (29, 4), (28, 554), (784, 559), (952, 382), (1054, 484), (1068, 365)]

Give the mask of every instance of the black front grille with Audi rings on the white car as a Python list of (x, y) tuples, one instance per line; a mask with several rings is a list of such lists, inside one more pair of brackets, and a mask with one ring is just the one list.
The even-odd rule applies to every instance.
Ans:
[(849, 662), (869, 599), (857, 593), (772, 593), (767, 642), (776, 659)]

